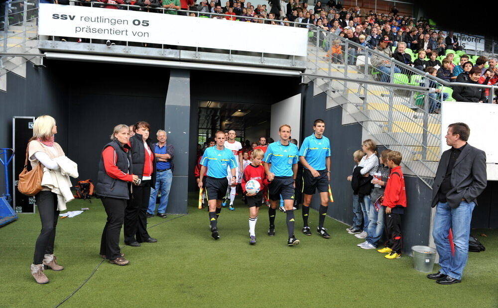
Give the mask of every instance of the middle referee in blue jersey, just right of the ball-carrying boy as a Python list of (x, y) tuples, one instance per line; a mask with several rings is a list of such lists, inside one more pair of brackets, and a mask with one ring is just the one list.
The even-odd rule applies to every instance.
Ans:
[(297, 175), (297, 158), (299, 151), (295, 144), (289, 142), (290, 125), (284, 124), (278, 129), (280, 140), (270, 143), (264, 154), (263, 166), (266, 177), (270, 184), (268, 185), (268, 195), (270, 199), (270, 208), (268, 216), (270, 227), (268, 235), (275, 235), (275, 215), (276, 208), (280, 201), (280, 195), (283, 198), (285, 212), (287, 214), (287, 231), (289, 239), (288, 246), (299, 244), (299, 240), (294, 237), (294, 189), (296, 187)]

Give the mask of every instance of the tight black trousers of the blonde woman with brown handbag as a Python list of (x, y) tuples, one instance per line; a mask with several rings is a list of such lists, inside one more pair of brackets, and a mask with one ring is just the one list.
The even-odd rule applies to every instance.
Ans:
[(33, 264), (42, 264), (45, 254), (54, 253), (55, 227), (59, 211), (57, 210), (57, 195), (50, 191), (39, 192), (35, 200), (40, 213), (41, 231), (34, 247)]

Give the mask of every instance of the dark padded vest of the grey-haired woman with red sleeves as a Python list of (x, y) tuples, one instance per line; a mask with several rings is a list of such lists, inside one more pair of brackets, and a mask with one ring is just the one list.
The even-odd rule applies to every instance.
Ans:
[[(133, 167), (131, 163), (131, 151), (127, 144), (121, 146), (118, 140), (109, 142), (104, 146), (102, 151), (107, 147), (113, 147), (118, 156), (116, 166), (124, 173), (131, 174)], [(128, 149), (125, 152), (124, 149)], [(129, 184), (128, 182), (111, 178), (104, 167), (104, 160), (102, 154), (100, 156), (99, 172), (97, 174), (97, 184), (95, 185), (95, 193), (99, 197), (108, 197), (116, 199), (129, 199)]]

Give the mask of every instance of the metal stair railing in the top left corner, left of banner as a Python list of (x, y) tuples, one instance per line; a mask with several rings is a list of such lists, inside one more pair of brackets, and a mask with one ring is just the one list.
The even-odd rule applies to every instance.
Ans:
[(27, 54), (36, 49), (37, 0), (14, 0), (0, 3), (0, 76), (14, 71), (29, 57), (5, 54)]

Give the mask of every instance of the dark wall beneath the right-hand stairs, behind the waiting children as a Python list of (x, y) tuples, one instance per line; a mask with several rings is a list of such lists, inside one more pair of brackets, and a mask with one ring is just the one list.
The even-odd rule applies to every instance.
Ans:
[[(328, 215), (349, 226), (353, 222), (353, 190), (351, 182), (348, 182), (346, 178), (352, 174), (353, 152), (361, 149), (362, 126), (360, 124), (342, 125), (342, 107), (338, 106), (326, 110), (326, 95), (322, 93), (313, 97), (312, 83), (307, 86), (303, 93), (302, 136), (311, 135), (313, 121), (321, 118), (326, 123), (324, 135), (330, 138), (332, 152), (331, 187), (334, 203), (329, 204)], [(416, 177), (405, 176), (405, 185), (408, 204), (402, 218), (403, 252), (411, 253), (411, 246), (429, 243), (430, 196), (432, 191)], [(313, 198), (311, 206), (318, 210), (320, 206), (318, 195)], [(358, 240), (352, 236), (352, 244), (357, 242)]]

